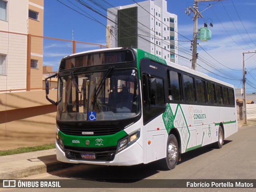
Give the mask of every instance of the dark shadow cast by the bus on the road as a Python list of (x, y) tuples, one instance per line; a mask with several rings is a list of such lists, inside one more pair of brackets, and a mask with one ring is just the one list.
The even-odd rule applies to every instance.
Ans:
[[(232, 142), (231, 140), (224, 140), (224, 146)], [(181, 162), (192, 160), (197, 156), (211, 152), (215, 148), (212, 145), (207, 145), (188, 151), (181, 154)], [(164, 171), (160, 165), (160, 161), (154, 161), (148, 164), (139, 164), (134, 166), (99, 166), (78, 164), (63, 170), (61, 172), (51, 172), (50, 174), (62, 177), (72, 178), (86, 181), (107, 182), (107, 183), (136, 183), (140, 180), (156, 175), (158, 172)]]

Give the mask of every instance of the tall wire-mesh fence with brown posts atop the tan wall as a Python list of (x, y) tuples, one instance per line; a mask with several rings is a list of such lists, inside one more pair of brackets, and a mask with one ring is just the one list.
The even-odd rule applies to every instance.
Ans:
[(106, 46), (0, 31), (0, 92), (44, 89), (43, 79), (58, 71), (61, 58), (101, 48)]

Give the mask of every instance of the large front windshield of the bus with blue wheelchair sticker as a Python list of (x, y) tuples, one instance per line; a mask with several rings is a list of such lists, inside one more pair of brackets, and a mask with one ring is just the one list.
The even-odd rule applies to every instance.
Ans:
[(120, 120), (140, 112), (136, 69), (109, 68), (61, 76), (57, 120)]

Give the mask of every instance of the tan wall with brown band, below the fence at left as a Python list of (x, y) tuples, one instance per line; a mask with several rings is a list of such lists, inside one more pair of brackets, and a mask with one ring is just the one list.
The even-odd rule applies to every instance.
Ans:
[[(57, 98), (57, 90), (49, 97)], [(45, 91), (0, 94), (0, 150), (55, 142), (57, 107), (45, 98)]]

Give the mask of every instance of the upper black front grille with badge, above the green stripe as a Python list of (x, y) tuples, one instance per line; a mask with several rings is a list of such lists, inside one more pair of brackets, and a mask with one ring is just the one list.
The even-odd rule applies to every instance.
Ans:
[[(67, 135), (76, 136), (102, 136), (112, 135), (120, 131), (116, 125), (90, 125), (90, 126), (63, 126), (61, 131)], [(92, 134), (93, 133), (93, 134)]]

